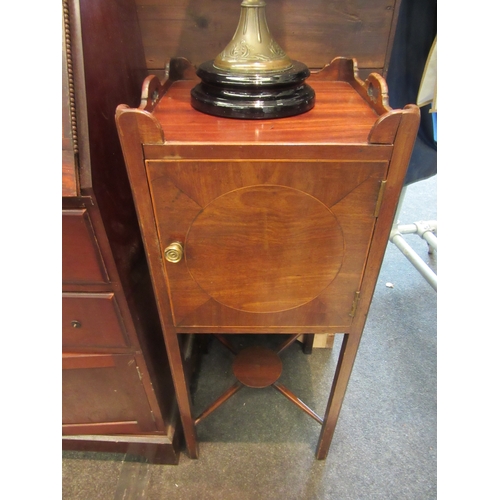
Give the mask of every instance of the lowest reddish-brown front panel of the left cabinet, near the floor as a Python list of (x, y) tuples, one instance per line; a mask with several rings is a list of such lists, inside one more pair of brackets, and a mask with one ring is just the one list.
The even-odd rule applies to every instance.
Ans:
[(156, 431), (133, 356), (63, 354), (63, 435)]

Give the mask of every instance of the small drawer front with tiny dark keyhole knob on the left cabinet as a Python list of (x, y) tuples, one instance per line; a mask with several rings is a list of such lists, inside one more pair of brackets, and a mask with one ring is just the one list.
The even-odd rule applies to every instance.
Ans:
[(113, 293), (63, 293), (63, 348), (129, 345)]

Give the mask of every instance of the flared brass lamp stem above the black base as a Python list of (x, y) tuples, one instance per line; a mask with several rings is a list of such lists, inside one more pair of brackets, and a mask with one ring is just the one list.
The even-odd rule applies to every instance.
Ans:
[(292, 67), (291, 59), (274, 40), (264, 0), (243, 0), (232, 40), (215, 58), (214, 66), (231, 72), (267, 73)]

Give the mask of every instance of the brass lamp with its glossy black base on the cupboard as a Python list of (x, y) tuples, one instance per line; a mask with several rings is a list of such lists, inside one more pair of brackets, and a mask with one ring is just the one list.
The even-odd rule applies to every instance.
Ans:
[(191, 105), (228, 118), (280, 118), (309, 111), (314, 90), (307, 66), (290, 59), (272, 37), (263, 0), (243, 0), (240, 21), (226, 48), (202, 63)]

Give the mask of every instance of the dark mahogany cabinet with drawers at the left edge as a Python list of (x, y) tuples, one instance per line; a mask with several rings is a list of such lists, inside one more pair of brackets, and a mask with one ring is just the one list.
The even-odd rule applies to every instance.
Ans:
[(147, 75), (132, 1), (63, 2), (63, 448), (178, 461), (180, 426), (116, 127)]

